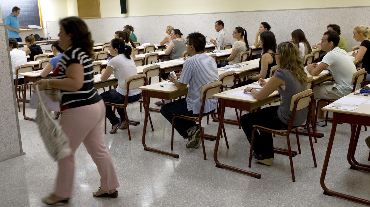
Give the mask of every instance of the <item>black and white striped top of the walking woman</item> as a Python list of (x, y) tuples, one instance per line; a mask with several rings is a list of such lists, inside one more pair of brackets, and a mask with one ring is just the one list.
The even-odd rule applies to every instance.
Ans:
[(72, 63), (78, 63), (84, 67), (84, 84), (78, 91), (60, 90), (62, 95), (61, 111), (68, 108), (75, 108), (97, 103), (101, 97), (94, 88), (94, 70), (92, 68), (91, 58), (80, 47), (70, 47), (65, 51), (63, 57), (59, 60), (58, 67), (54, 71), (53, 79), (66, 78), (65, 71)]

